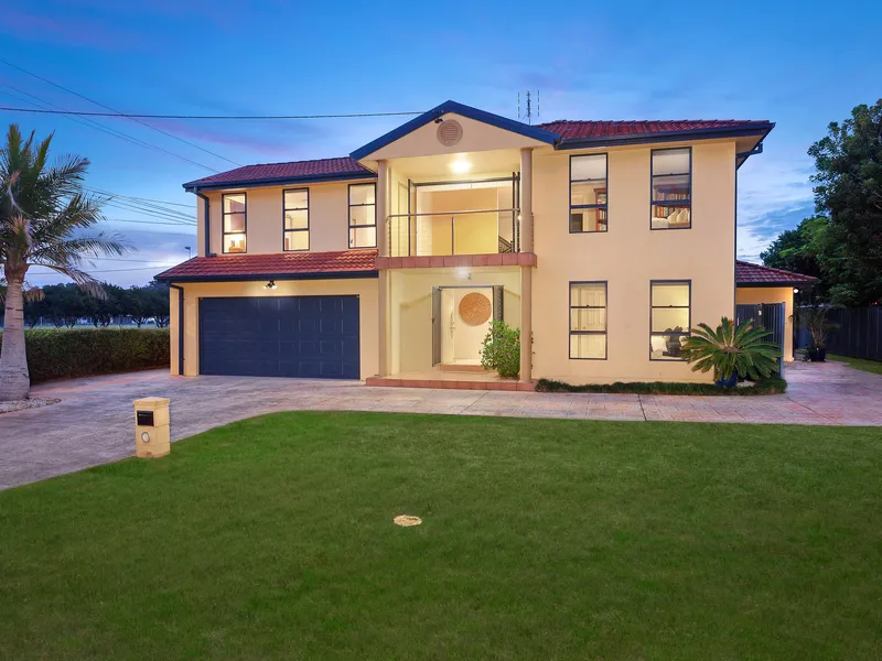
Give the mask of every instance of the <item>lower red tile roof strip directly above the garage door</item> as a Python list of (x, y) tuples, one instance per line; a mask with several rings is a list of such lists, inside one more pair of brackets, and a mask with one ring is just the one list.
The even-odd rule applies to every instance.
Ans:
[(279, 252), (195, 257), (157, 275), (157, 280), (244, 280), (321, 273), (376, 272), (377, 250), (341, 252)]

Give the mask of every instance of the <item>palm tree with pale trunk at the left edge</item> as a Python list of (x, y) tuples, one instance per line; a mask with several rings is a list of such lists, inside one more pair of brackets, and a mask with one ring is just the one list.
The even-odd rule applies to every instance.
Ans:
[(0, 149), (0, 268), (6, 279), (0, 401), (24, 399), (31, 386), (23, 308), (25, 296), (39, 291), (26, 285), (28, 269), (46, 267), (100, 296), (100, 284), (80, 268), (84, 258), (126, 250), (116, 237), (80, 234), (103, 219), (103, 201), (83, 193), (87, 159), (62, 156), (47, 164), (51, 142), (49, 136), (34, 144), (33, 132), (25, 141), (11, 124)]

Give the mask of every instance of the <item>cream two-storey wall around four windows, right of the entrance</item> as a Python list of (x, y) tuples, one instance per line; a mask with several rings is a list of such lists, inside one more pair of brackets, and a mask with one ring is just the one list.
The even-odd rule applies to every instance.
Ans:
[[(664, 144), (660, 147), (677, 147)], [(534, 153), (534, 378), (572, 383), (709, 381), (649, 360), (649, 281), (691, 280), (691, 323), (734, 314), (735, 143), (692, 145), (691, 229), (649, 229), (649, 147), (609, 153), (609, 231), (569, 232), (568, 152)], [(607, 282), (606, 360), (569, 359), (569, 282)]]

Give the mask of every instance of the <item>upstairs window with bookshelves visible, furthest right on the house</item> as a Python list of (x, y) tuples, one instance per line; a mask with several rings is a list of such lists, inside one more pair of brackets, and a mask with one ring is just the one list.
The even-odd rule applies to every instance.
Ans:
[(692, 226), (692, 150), (653, 150), (652, 229)]

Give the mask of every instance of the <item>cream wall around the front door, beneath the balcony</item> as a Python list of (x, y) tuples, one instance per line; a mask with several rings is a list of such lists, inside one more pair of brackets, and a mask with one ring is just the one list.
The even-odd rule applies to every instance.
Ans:
[(503, 315), (520, 327), (520, 269), (480, 267), (466, 272), (454, 269), (395, 270), (391, 280), (391, 372), (429, 372), (432, 369), (432, 288), (504, 286)]

